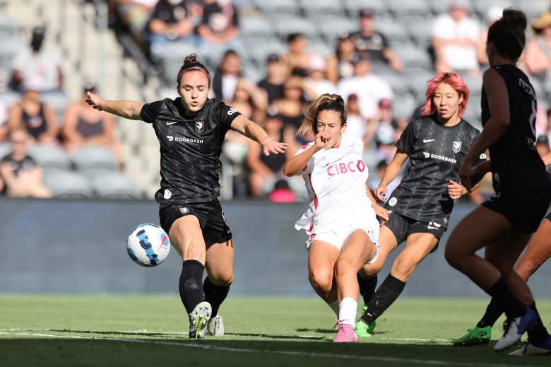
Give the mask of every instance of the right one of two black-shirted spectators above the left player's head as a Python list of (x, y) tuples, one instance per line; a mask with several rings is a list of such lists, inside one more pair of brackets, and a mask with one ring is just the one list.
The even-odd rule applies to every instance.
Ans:
[(241, 49), (239, 40), (239, 14), (232, 0), (205, 1), (203, 20), (197, 28), (201, 36), (201, 49), (210, 52), (213, 47), (225, 45)]

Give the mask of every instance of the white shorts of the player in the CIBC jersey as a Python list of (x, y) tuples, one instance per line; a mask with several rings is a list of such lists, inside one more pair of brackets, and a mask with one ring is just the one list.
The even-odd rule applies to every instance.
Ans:
[(367, 233), (369, 240), (375, 244), (375, 255), (366, 264), (372, 264), (377, 260), (379, 255), (379, 221), (375, 217), (366, 219), (361, 223), (350, 223), (341, 226), (314, 228), (312, 234), (306, 241), (306, 248), (309, 248), (314, 241), (324, 241), (343, 250), (343, 245), (350, 235), (358, 229)]

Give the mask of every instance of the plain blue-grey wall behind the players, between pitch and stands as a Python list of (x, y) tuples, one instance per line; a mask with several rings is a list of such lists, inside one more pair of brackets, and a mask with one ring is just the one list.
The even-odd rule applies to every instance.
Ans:
[[(293, 228), (304, 204), (223, 206), (235, 240), (233, 295), (314, 295), (306, 235)], [(406, 295), (485, 296), (443, 256), (451, 228), (472, 209), (456, 207), (442, 245), (410, 278)], [(1, 199), (0, 293), (177, 293), (182, 260), (174, 249), (156, 268), (139, 267), (126, 255), (129, 231), (146, 222), (158, 223), (155, 202)], [(551, 297), (548, 279), (551, 262), (530, 281), (536, 297)]]

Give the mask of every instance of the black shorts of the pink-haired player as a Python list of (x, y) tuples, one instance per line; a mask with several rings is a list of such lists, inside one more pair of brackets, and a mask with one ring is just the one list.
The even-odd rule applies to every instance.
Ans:
[(409, 235), (413, 233), (430, 233), (438, 239), (436, 247), (431, 252), (434, 252), (438, 248), (440, 243), (440, 238), (446, 232), (446, 226), (444, 226), (444, 219), (442, 221), (417, 221), (417, 219), (409, 218), (408, 216), (403, 216), (402, 214), (392, 211), (389, 220), (384, 223), (386, 228), (389, 228), (396, 237), (396, 242), (398, 245), (403, 243)]

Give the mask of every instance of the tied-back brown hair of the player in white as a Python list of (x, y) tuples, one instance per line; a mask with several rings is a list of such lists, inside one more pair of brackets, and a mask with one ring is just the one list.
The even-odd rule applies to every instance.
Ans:
[(340, 114), (340, 126), (346, 124), (348, 112), (346, 111), (343, 98), (338, 94), (322, 94), (314, 100), (304, 111), (304, 120), (297, 131), (297, 134), (304, 136), (309, 133), (318, 133), (318, 115), (324, 110), (335, 111)]

